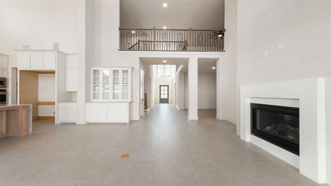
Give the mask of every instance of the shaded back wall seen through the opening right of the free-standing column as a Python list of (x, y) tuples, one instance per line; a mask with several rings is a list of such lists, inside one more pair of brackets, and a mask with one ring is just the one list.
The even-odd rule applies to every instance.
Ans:
[(216, 109), (216, 74), (198, 73), (198, 109)]

